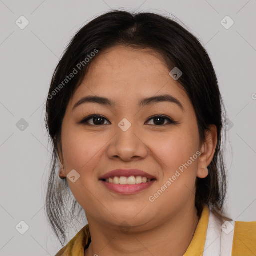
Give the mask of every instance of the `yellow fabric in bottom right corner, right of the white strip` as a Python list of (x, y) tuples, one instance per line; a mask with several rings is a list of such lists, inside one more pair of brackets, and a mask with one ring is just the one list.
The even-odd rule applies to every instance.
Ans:
[(234, 222), (232, 256), (255, 255), (256, 253), (256, 221)]

